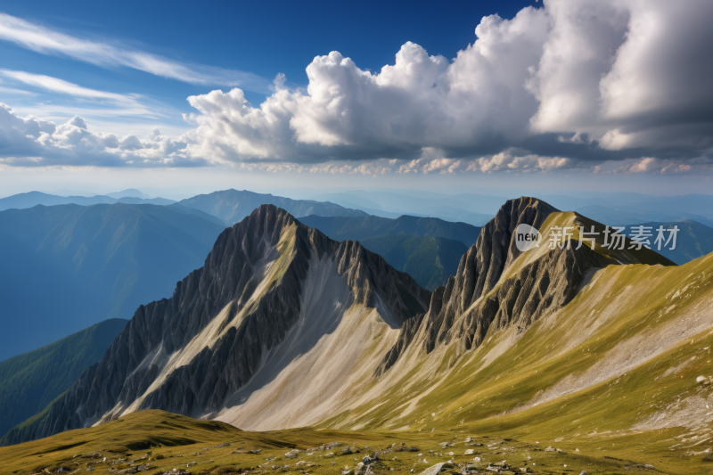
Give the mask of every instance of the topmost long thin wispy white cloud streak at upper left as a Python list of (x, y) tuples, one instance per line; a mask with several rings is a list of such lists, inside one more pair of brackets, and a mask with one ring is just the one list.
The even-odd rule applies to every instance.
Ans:
[(120, 45), (73, 37), (3, 12), (0, 12), (0, 39), (37, 53), (68, 56), (101, 67), (132, 68), (196, 85), (239, 86), (260, 93), (269, 91), (269, 81), (251, 72), (173, 61)]

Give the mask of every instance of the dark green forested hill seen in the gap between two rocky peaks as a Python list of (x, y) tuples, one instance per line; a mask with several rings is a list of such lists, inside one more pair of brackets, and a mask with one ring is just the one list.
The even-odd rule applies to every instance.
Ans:
[(468, 250), (460, 241), (403, 233), (381, 234), (361, 243), (430, 291), (445, 285), (449, 275), (455, 275), (461, 256)]

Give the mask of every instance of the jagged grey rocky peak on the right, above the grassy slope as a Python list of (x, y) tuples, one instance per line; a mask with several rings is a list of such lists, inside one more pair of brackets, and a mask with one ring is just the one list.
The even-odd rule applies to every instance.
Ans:
[[(531, 225), (543, 234), (539, 248), (525, 251), (527, 257), (522, 256), (515, 241), (514, 231), (520, 224)], [(577, 246), (576, 240), (570, 247), (558, 245), (548, 250), (553, 225), (581, 225), (587, 232), (594, 226), (600, 236), (594, 250), (589, 244)], [(603, 249), (603, 228), (535, 198), (506, 201), (463, 255), (457, 274), (433, 292), (428, 312), (416, 315), (402, 327), (399, 340), (384, 356), (375, 375), (389, 370), (410, 345), (419, 345), (428, 354), (437, 345), (455, 343), (456, 355), (460, 356), (478, 348), (489, 330), (514, 325), (525, 332), (537, 319), (570, 302), (587, 275), (596, 269), (612, 264), (674, 265), (652, 250), (628, 250), (628, 240), (625, 250)], [(573, 237), (578, 239), (578, 232)], [(518, 265), (513, 266), (516, 261)]]

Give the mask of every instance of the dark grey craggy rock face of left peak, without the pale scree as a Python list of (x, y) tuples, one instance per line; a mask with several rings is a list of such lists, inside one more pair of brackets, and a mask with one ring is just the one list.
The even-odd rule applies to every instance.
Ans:
[[(117, 407), (126, 409), (152, 385), (154, 389), (132, 409), (186, 415), (217, 410), (258, 370), (263, 352), (278, 345), (297, 321), (300, 293), (315, 253), (317, 258), (331, 258), (347, 281), (348, 305), (385, 307), (397, 325), (428, 307), (429, 291), (358, 242), (333, 242), (283, 209), (263, 205), (218, 236), (205, 266), (177, 283), (170, 299), (139, 307), (102, 361), (87, 368), (43, 417), (11, 430), (4, 443), (43, 438), (111, 418)], [(264, 289), (258, 287), (265, 285), (266, 263), (276, 261), (278, 277)], [(225, 308), (221, 330), (227, 331), (190, 362), (157, 380), (160, 356), (184, 348)], [(225, 327), (240, 313), (245, 316), (239, 324)]]

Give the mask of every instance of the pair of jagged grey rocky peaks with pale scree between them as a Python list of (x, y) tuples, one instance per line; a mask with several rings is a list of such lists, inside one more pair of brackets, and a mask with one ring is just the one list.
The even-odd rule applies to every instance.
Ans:
[[(607, 250), (601, 242), (523, 253), (512, 239), (520, 224), (544, 233), (600, 226), (542, 201), (508, 201), (431, 297), (358, 242), (333, 242), (263, 205), (221, 233), (206, 266), (171, 299), (139, 307), (102, 361), (43, 417), (4, 440), (150, 408), (251, 430), (327, 420), (383, 427), (371, 410), (368, 422), (359, 414), (375, 400), (392, 405), (397, 380), (413, 390), (402, 378), (416, 366), (452, 367), (472, 359), (488, 335), (527, 333), (575, 299), (598, 269), (674, 265), (652, 250)], [(346, 419), (331, 419), (347, 408)]]

